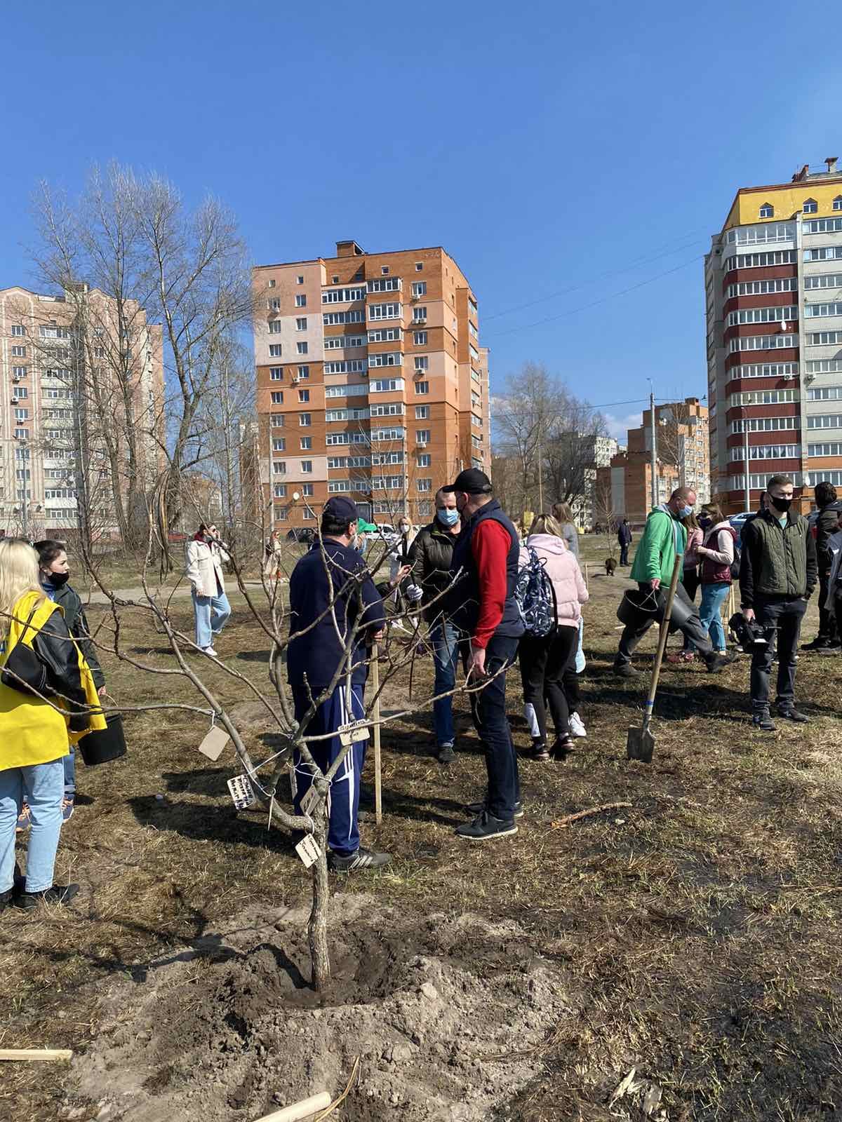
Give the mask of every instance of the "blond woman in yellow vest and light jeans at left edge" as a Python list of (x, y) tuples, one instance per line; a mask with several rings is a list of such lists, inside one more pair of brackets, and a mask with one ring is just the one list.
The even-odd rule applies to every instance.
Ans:
[[(40, 587), (38, 554), (12, 537), (0, 541), (0, 669), (18, 643), (31, 647), (46, 668), (52, 701), (0, 682), (0, 911), (9, 903), (27, 911), (45, 901), (67, 903), (79, 892), (77, 884), (53, 883), (62, 829), (62, 761), (71, 739), (76, 743), (86, 732), (106, 727), (88, 664), (62, 609)], [(33, 825), (26, 882), (16, 884), (15, 826), (25, 793)]]

